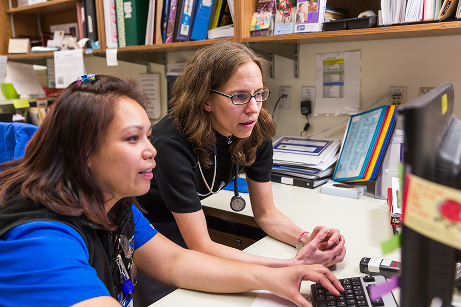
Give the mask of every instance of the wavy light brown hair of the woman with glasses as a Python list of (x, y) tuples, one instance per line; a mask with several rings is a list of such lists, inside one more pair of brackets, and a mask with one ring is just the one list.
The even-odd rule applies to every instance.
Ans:
[[(215, 130), (203, 105), (211, 89), (219, 89), (231, 78), (239, 65), (255, 62), (261, 70), (266, 86), (266, 60), (252, 49), (238, 42), (219, 41), (199, 49), (183, 66), (180, 76), (172, 86), (171, 106), (173, 116), (183, 138), (194, 145), (202, 167), (210, 167), (209, 158), (217, 142)], [(230, 102), (229, 102), (230, 103)], [(275, 135), (276, 125), (263, 101), (258, 121), (252, 134), (232, 142), (229, 151), (234, 162), (249, 166), (256, 159), (256, 148)]]

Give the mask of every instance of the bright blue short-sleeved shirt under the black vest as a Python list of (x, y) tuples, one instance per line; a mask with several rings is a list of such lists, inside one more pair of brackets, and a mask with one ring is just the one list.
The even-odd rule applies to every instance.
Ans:
[[(132, 206), (134, 248), (157, 230)], [(85, 240), (71, 226), (35, 221), (14, 227), (0, 237), (0, 306), (69, 306), (110, 296), (88, 263)]]

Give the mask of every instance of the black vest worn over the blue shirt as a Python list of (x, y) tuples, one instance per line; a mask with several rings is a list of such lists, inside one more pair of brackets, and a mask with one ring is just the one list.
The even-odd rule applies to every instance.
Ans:
[[(116, 209), (117, 215), (120, 216), (117, 231), (103, 229), (85, 216), (61, 215), (31, 200), (15, 198), (8, 201), (6, 207), (0, 208), (0, 236), (18, 225), (33, 221), (56, 221), (71, 226), (80, 233), (87, 244), (90, 266), (96, 270), (97, 276), (106, 285), (111, 296), (117, 298), (121, 288), (120, 272), (115, 263), (114, 240), (116, 234), (125, 234), (133, 246), (135, 225), (130, 207), (119, 205), (113, 209)], [(124, 262), (127, 261), (125, 267), (128, 268), (128, 260), (122, 258)]]

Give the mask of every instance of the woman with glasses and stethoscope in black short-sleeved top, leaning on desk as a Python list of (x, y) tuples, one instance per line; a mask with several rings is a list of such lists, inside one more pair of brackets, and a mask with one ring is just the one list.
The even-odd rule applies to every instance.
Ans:
[[(337, 264), (346, 252), (337, 229), (316, 227), (307, 234), (274, 206), (270, 170), (276, 126), (266, 109), (265, 64), (248, 47), (229, 41), (203, 47), (184, 64), (172, 87), (172, 109), (152, 128), (158, 166), (150, 191), (138, 200), (160, 233), (193, 250), (269, 267)], [(231, 182), (237, 169), (246, 173), (262, 230), (292, 246), (306, 246), (293, 259), (251, 255), (209, 237), (200, 201)], [(237, 201), (234, 209), (242, 206)], [(136, 298), (145, 297), (138, 305), (156, 299), (149, 293), (139, 289)]]

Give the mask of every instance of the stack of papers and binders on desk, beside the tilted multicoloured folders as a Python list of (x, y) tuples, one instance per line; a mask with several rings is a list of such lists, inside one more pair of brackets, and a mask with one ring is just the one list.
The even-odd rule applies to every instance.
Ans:
[(281, 137), (274, 142), (273, 182), (307, 188), (331, 178), (341, 141), (304, 137)]

